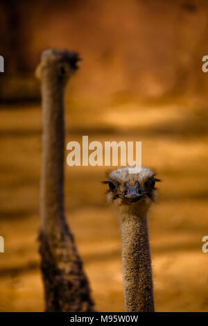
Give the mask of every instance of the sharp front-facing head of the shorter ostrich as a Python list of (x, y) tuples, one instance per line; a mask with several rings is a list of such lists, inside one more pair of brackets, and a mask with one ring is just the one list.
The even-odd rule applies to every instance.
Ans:
[(120, 211), (134, 210), (145, 213), (157, 199), (155, 173), (147, 168), (117, 169), (108, 175), (107, 199)]

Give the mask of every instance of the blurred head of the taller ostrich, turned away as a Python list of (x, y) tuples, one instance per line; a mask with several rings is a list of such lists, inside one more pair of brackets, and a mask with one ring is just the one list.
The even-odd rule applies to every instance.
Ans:
[(57, 81), (66, 84), (69, 77), (78, 69), (78, 53), (67, 50), (46, 49), (42, 51), (40, 65), (37, 66), (35, 75), (42, 79)]

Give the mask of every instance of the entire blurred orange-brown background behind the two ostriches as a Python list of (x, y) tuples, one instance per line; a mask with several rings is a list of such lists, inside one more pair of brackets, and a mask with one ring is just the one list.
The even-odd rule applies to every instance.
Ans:
[[(149, 218), (156, 311), (208, 311), (207, 18), (205, 0), (1, 1), (0, 311), (44, 310), (34, 71), (48, 47), (83, 58), (67, 87), (66, 142), (142, 141), (142, 164), (163, 180)], [(123, 311), (120, 227), (105, 202), (106, 170), (66, 162), (67, 219), (96, 309)]]

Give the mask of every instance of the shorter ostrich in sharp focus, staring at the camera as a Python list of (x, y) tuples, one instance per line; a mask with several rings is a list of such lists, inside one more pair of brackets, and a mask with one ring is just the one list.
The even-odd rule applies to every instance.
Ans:
[(155, 174), (146, 168), (112, 171), (107, 199), (121, 220), (125, 311), (155, 311), (147, 215), (156, 200)]

